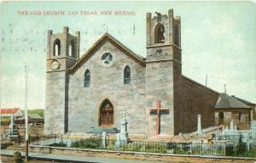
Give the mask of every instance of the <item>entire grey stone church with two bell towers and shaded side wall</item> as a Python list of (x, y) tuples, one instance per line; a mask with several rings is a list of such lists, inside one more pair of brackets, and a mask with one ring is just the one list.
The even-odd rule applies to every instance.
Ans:
[(122, 110), (129, 134), (193, 132), (197, 115), (215, 125), (218, 93), (182, 75), (180, 17), (170, 9), (146, 21), (146, 58), (108, 33), (79, 57), (79, 31), (48, 31), (45, 133), (119, 128)]

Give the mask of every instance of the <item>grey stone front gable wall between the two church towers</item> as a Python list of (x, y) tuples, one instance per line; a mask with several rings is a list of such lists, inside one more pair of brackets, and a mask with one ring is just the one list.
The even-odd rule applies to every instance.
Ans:
[[(113, 63), (102, 64), (102, 54), (111, 53)], [(124, 85), (124, 69), (131, 68), (131, 84)], [(90, 70), (90, 87), (84, 87), (84, 71)], [(145, 134), (145, 67), (137, 64), (110, 42), (104, 42), (79, 70), (70, 75), (68, 132), (87, 132), (99, 125), (99, 110), (106, 98), (113, 104), (113, 126), (120, 126), (127, 110), (128, 131)]]

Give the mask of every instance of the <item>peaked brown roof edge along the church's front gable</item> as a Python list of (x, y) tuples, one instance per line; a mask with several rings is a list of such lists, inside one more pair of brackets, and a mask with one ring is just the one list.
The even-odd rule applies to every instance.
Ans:
[(106, 41), (111, 42), (116, 48), (119, 48), (120, 51), (131, 57), (131, 59), (134, 59), (138, 64), (143, 66), (146, 65), (145, 59), (142, 56), (133, 53), (129, 48), (126, 48), (121, 42), (116, 40), (114, 37), (110, 36), (108, 33), (105, 33), (83, 54), (83, 56), (74, 65), (68, 68), (68, 71), (74, 72), (75, 70), (77, 70), (88, 59), (90, 59), (93, 53), (96, 52), (97, 48), (100, 47)]

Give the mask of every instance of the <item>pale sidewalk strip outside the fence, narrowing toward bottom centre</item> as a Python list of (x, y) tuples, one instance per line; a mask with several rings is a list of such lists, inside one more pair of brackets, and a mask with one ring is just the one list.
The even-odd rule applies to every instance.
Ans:
[[(1, 149), (1, 155), (13, 156), (15, 151), (11, 149)], [(25, 152), (20, 152), (22, 156)], [(89, 157), (89, 156), (79, 156), (79, 155), (55, 155), (55, 154), (41, 154), (41, 153), (29, 153), (30, 158), (38, 160), (55, 160), (55, 161), (65, 161), (65, 162), (90, 162), (90, 163), (155, 163), (154, 161), (148, 160), (124, 160), (124, 159), (114, 159), (107, 157)]]

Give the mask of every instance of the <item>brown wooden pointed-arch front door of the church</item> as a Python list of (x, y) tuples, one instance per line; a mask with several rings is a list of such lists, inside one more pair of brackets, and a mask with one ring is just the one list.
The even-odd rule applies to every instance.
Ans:
[(113, 126), (113, 104), (108, 99), (102, 102), (99, 126)]

